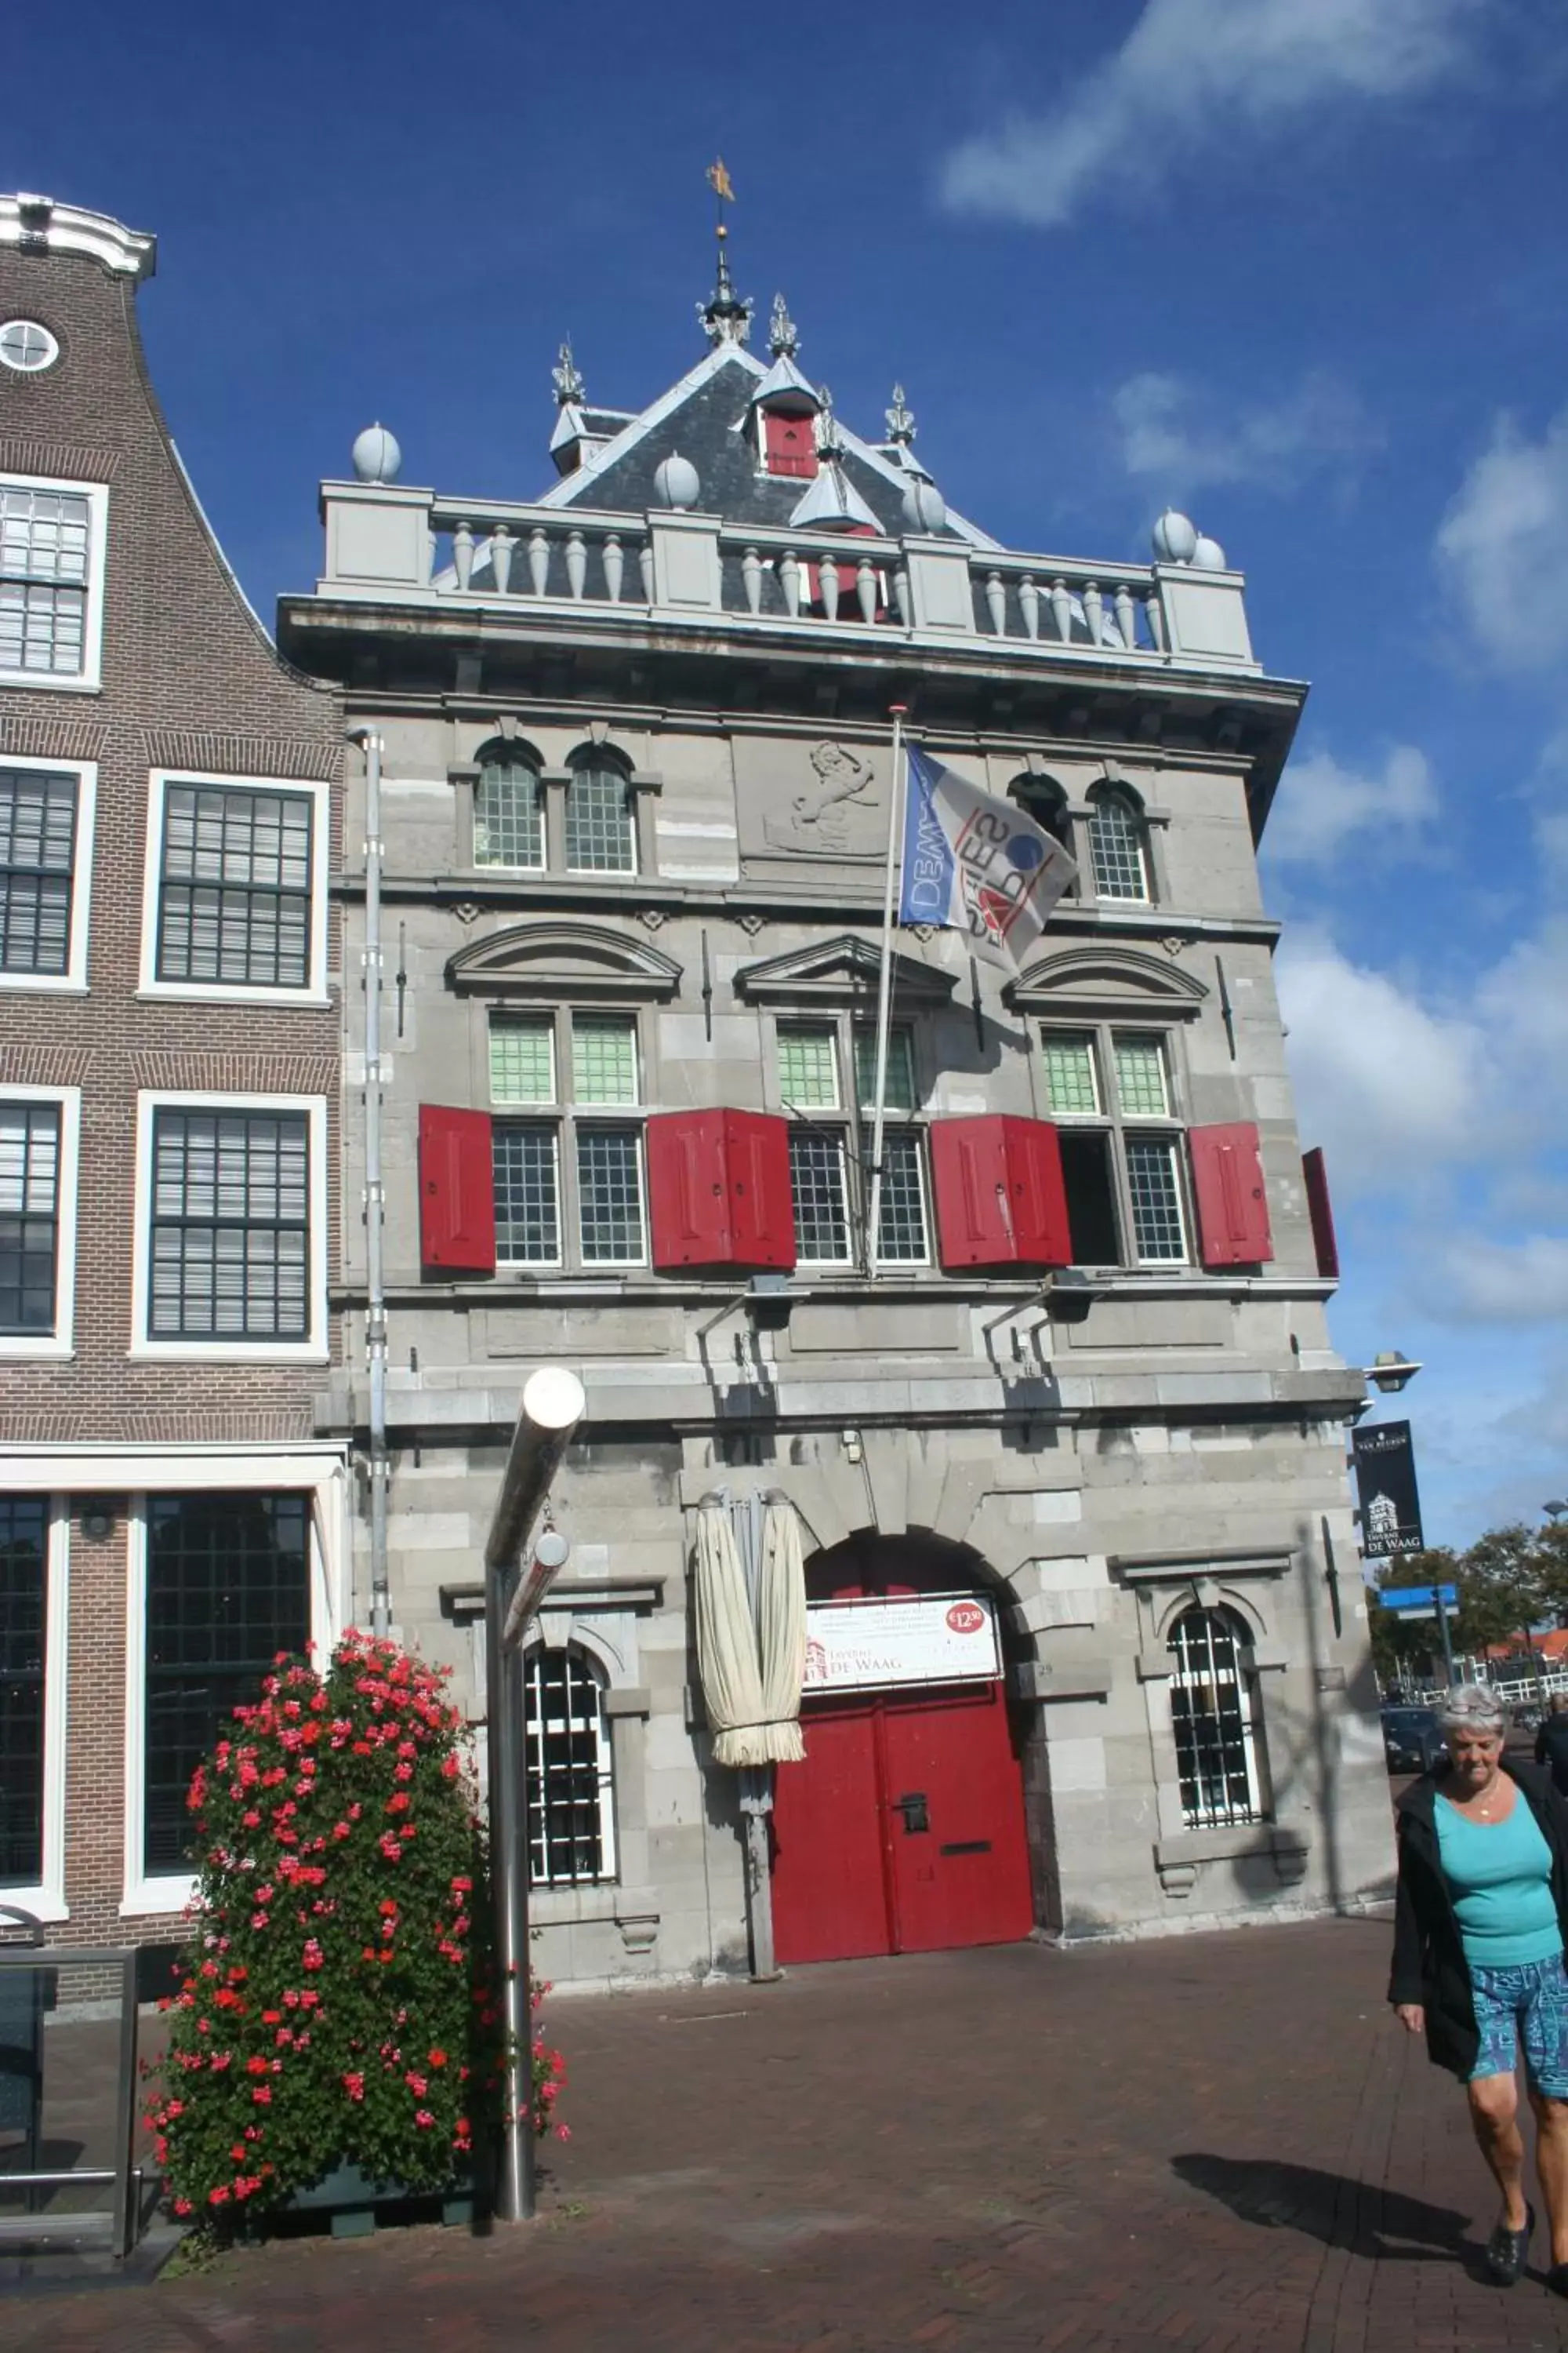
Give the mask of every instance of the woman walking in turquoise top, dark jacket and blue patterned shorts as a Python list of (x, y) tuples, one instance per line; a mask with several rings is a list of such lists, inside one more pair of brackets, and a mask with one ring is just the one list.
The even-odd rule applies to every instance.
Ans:
[(1465, 2080), (1469, 2122), (1502, 2212), (1486, 2273), (1514, 2287), (1535, 2228), (1523, 2195), (1519, 2082), (1535, 2111), (1535, 2172), (1552, 2233), (1547, 2287), (1568, 2297), (1568, 1805), (1537, 1765), (1505, 1760), (1507, 1713), (1465, 1682), (1439, 1706), (1448, 1760), (1399, 1800), (1399, 1904), (1389, 2002), (1427, 2054)]

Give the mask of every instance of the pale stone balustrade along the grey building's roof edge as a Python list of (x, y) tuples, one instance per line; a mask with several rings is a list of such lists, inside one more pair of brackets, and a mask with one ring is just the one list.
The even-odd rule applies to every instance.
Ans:
[(722, 614), (741, 628), (978, 638), (1025, 656), (1039, 647), (1053, 659), (1258, 668), (1237, 572), (1088, 565), (947, 536), (731, 529), (684, 511), (454, 501), (386, 482), (327, 482), (322, 513), (322, 595)]

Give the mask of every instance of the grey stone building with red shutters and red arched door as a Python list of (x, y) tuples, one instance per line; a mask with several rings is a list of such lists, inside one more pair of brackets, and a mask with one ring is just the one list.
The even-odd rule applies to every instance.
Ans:
[[(1009, 551), (947, 511), (903, 395), (860, 440), (783, 304), (771, 365), (748, 325), (722, 273), (710, 351), (642, 412), (562, 351), (531, 504), (404, 487), (364, 435), (280, 612), (386, 746), (395, 1617), (480, 1718), (505, 1438), (571, 1365), (574, 1551), (529, 1652), (552, 1979), (745, 1962), (689, 1612), (712, 1494), (788, 1499), (809, 1555), (783, 1958), (1363, 1901), (1363, 1384), (1255, 866), (1305, 689), (1182, 518), (1154, 565)], [(1011, 976), (898, 932), (867, 1271), (891, 706), (1079, 882)], [(362, 908), (350, 854), (350, 958)], [(353, 1096), (343, 1155), (353, 1200)], [(317, 1433), (362, 1445), (353, 1219), (343, 1313)], [(851, 1624), (882, 1668), (832, 1666)], [(938, 1657), (964, 1631), (997, 1642), (971, 1682)]]

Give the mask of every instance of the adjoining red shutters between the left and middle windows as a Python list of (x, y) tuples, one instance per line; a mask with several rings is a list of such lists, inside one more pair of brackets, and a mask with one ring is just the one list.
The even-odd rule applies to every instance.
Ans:
[(757, 1111), (665, 1111), (649, 1120), (649, 1226), (663, 1273), (795, 1266), (790, 1134)]

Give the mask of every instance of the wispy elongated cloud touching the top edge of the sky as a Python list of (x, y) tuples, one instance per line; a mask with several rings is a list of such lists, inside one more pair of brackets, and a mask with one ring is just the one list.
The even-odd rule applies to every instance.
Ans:
[(943, 200), (1056, 228), (1237, 132), (1450, 75), (1488, 0), (1147, 0), (1121, 47), (1046, 115), (954, 148)]

